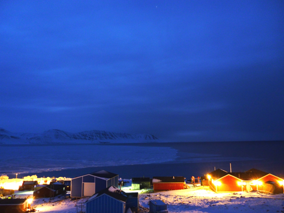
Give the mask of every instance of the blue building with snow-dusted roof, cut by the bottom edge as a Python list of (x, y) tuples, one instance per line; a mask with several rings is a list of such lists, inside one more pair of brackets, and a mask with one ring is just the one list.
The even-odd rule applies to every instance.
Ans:
[(125, 193), (110, 186), (91, 196), (86, 201), (86, 213), (138, 212), (138, 192)]

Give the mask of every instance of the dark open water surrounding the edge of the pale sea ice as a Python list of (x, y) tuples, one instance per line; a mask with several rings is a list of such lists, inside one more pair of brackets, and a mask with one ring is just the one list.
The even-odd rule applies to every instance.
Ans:
[[(192, 175), (196, 177), (203, 176), (213, 171), (214, 167), (230, 171), (229, 163), (231, 163), (232, 171), (235, 172), (256, 168), (282, 178), (284, 177), (284, 141), (175, 142), (110, 145), (146, 146), (149, 149), (153, 146), (172, 147), (178, 150), (178, 158), (170, 163), (64, 169), (60, 171), (24, 174), (23, 176), (37, 174), (38, 177), (75, 177), (104, 169), (117, 173), (122, 178), (143, 176), (184, 176), (189, 178)], [(166, 158), (167, 153), (164, 154)], [(21, 178), (21, 174), (18, 177)]]

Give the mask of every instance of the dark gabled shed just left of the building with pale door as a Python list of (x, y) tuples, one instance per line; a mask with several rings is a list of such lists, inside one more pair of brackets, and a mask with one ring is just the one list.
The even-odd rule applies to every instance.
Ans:
[(65, 193), (66, 186), (60, 182), (54, 182), (53, 184), (45, 185), (45, 187), (34, 191), (34, 197), (55, 197)]

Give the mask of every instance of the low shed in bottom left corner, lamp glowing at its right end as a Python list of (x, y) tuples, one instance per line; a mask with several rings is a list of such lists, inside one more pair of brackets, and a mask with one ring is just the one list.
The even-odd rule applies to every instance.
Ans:
[(19, 213), (25, 212), (31, 204), (27, 198), (20, 199), (0, 199), (0, 212), (1, 213)]

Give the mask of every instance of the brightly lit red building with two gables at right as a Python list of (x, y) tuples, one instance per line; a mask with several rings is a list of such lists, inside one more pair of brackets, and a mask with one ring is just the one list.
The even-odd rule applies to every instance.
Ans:
[[(257, 169), (249, 169), (245, 172), (227, 172), (217, 169), (207, 176), (210, 188), (215, 192), (222, 193), (251, 190), (267, 191), (266, 182), (269, 182), (271, 185), (272, 181), (277, 183), (281, 188), (283, 188), (284, 183), (284, 180), (280, 177)], [(277, 189), (277, 191), (279, 190)]]

